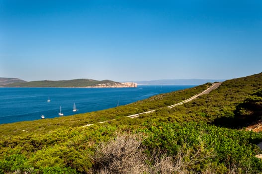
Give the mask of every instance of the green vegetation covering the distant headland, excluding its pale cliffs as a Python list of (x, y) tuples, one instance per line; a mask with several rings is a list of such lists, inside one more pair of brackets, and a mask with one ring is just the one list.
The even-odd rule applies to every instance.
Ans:
[(99, 84), (115, 84), (118, 82), (103, 80), (96, 81), (91, 79), (75, 79), (68, 81), (32, 81), (22, 83), (12, 83), (3, 85), (4, 87), (91, 87)]

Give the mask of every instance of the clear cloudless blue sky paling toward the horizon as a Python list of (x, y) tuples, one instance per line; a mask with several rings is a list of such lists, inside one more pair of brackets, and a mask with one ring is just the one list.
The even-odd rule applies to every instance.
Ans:
[(262, 0), (0, 0), (0, 77), (231, 79), (262, 72)]

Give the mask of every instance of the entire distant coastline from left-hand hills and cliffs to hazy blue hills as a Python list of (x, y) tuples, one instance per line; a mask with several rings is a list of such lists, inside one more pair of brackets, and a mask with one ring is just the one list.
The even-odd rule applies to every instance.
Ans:
[(223, 82), (214, 79), (170, 79), (153, 81), (114, 82), (110, 80), (96, 81), (92, 79), (75, 79), (62, 81), (31, 81), (17, 78), (0, 78), (0, 87), (137, 87), (137, 85), (202, 85), (205, 83)]

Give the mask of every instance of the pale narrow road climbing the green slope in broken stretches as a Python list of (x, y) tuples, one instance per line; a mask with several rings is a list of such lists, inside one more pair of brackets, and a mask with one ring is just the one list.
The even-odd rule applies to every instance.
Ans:
[[(192, 97), (190, 97), (190, 98), (188, 98), (188, 99), (186, 99), (186, 100), (183, 100), (183, 101), (181, 101), (181, 102), (179, 102), (179, 103), (176, 103), (176, 104), (173, 104), (173, 105), (170, 105), (170, 106), (167, 106), (167, 107), (168, 107), (168, 108), (173, 108), (173, 107), (175, 107), (175, 106), (178, 106), (178, 105), (181, 105), (181, 104), (183, 104), (183, 103), (189, 102), (189, 101), (191, 101), (191, 100), (193, 100), (193, 99), (195, 99), (195, 98), (197, 98), (197, 97), (199, 97), (199, 96), (201, 96), (201, 95), (203, 95), (203, 94), (208, 94), (210, 91), (218, 88), (221, 84), (222, 84), (222, 82), (213, 83), (211, 87), (208, 87), (207, 89), (205, 89), (205, 90), (202, 91), (201, 93), (198, 93), (198, 94), (196, 94), (196, 95), (194, 95), (194, 96), (192, 96)], [(152, 112), (155, 112), (155, 111), (156, 111), (156, 109), (150, 110), (150, 111), (147, 111), (147, 112), (141, 112), (141, 113), (137, 113), (137, 114), (133, 114), (133, 115), (128, 115), (127, 117), (136, 118), (136, 117), (139, 117), (139, 115), (147, 114), (147, 113), (152, 113)], [(99, 122), (99, 123), (105, 123), (105, 122), (107, 122), (107, 121), (102, 121), (102, 122)], [(92, 124), (87, 124), (87, 125), (85, 125), (85, 126), (91, 126), (91, 125), (92, 125)], [(85, 127), (85, 126), (83, 126), (83, 127)]]

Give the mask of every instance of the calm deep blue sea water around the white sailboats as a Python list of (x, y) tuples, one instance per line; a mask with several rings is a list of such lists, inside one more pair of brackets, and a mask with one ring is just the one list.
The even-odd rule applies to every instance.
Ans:
[[(194, 86), (138, 86), (137, 88), (0, 87), (0, 124), (58, 117), (108, 109), (150, 96)], [(50, 102), (47, 102), (50, 97)], [(76, 103), (77, 112), (73, 112)]]

